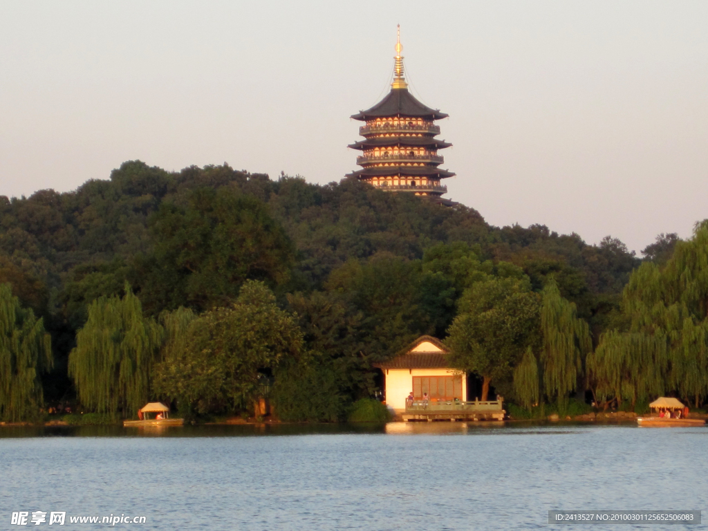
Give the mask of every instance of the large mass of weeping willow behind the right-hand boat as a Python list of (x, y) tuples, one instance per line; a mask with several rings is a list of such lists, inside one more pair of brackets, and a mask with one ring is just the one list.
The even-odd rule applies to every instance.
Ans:
[(678, 241), (666, 266), (644, 263), (622, 292), (624, 329), (608, 331), (588, 359), (600, 399), (675, 392), (698, 406), (708, 394), (708, 224)]

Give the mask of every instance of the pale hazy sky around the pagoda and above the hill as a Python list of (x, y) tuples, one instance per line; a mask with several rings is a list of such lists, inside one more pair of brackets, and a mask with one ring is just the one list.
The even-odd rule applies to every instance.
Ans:
[(3, 0), (0, 195), (131, 159), (339, 181), (397, 23), (447, 198), (638, 252), (708, 217), (706, 1)]

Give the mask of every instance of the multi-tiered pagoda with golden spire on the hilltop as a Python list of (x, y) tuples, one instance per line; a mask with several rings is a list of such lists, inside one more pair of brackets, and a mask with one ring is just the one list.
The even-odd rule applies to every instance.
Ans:
[(435, 138), (440, 135), (435, 120), (447, 115), (426, 107), (409, 92), (401, 50), (399, 27), (391, 91), (372, 108), (351, 116), (365, 125), (359, 127), (364, 139), (349, 145), (362, 152), (356, 159), (362, 169), (347, 176), (382, 190), (428, 195), (447, 203), (440, 198), (447, 193), (440, 181), (455, 173), (439, 168), (444, 159), (438, 149), (452, 144)]

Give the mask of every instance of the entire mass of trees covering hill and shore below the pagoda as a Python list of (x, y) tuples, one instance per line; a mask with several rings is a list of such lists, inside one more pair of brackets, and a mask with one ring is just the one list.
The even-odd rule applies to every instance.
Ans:
[(280, 418), (336, 421), (375, 396), (372, 363), (423, 334), (526, 408), (702, 402), (705, 230), (661, 234), (641, 261), (610, 236), (492, 227), (351, 179), (126, 162), (74, 192), (0, 196), (0, 416), (268, 395)]

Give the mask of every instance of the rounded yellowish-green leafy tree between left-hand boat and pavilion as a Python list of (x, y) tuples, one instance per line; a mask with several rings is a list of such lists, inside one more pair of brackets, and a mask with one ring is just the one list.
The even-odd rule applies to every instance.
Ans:
[(181, 321), (156, 367), (156, 392), (200, 413), (244, 409), (258, 395), (261, 375), (302, 352), (295, 319), (263, 282), (245, 282), (231, 307)]

